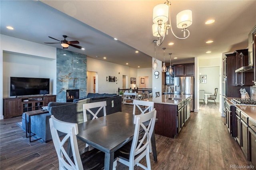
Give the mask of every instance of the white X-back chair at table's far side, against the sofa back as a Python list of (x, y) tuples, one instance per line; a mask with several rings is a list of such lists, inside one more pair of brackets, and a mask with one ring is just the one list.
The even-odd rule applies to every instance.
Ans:
[(87, 122), (86, 113), (90, 113), (90, 115), (92, 115), (92, 120), (93, 120), (98, 118), (98, 113), (103, 109), (103, 114), (104, 116), (106, 116), (106, 106), (107, 106), (106, 101), (83, 104), (84, 122)]

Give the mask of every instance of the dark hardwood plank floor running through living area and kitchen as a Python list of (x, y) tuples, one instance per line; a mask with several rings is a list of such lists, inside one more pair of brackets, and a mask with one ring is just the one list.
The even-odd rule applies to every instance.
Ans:
[[(132, 107), (122, 105), (122, 111), (132, 114)], [(200, 111), (191, 113), (176, 138), (156, 135), (158, 161), (154, 162), (150, 154), (152, 169), (221, 170), (231, 169), (230, 165), (250, 165), (238, 143), (228, 134), (225, 118), (218, 109), (214, 104), (200, 105)], [(21, 122), (21, 117), (0, 121), (0, 169), (57, 170), (58, 157), (53, 143), (29, 142), (17, 122)], [(81, 151), (83, 147), (84, 143), (79, 142)], [(146, 159), (142, 163), (146, 164)], [(116, 169), (129, 168), (118, 162)], [(135, 169), (141, 168), (135, 166)]]

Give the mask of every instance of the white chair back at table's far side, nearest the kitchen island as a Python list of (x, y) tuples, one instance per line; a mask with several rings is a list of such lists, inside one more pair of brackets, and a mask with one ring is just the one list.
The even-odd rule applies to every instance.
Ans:
[(132, 114), (135, 115), (136, 108), (138, 108), (140, 114), (144, 114), (147, 111), (152, 111), (154, 109), (154, 102), (152, 101), (141, 101), (141, 100), (134, 100), (133, 101), (133, 112)]

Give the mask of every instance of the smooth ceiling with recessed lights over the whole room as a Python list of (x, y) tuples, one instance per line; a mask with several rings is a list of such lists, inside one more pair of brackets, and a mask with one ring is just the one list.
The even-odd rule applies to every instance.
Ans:
[[(129, 67), (152, 66), (154, 43), (152, 12), (164, 0), (0, 0), (0, 34), (61, 48), (48, 38), (78, 40), (85, 50), (68, 47), (95, 59)], [(190, 37), (176, 39), (171, 32), (161, 46), (156, 46), (156, 59), (169, 63), (187, 62), (194, 57), (219, 57), (222, 53), (248, 47), (248, 34), (256, 25), (256, 0), (173, 0), (171, 18), (174, 33), (176, 14), (192, 10)], [(210, 25), (206, 20), (214, 19)], [(14, 30), (8, 30), (12, 26)], [(117, 38), (118, 40), (114, 40)], [(206, 44), (208, 40), (213, 43)], [(173, 42), (174, 45), (168, 45)], [(139, 53), (135, 53), (138, 50)], [(212, 51), (212, 53), (206, 53)], [(106, 57), (106, 59), (103, 59)], [(178, 57), (178, 59), (173, 59)], [(168, 65), (168, 64), (167, 64)]]

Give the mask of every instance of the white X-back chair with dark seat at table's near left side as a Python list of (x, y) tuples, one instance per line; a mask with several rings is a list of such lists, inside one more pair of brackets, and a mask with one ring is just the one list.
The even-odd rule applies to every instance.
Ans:
[[(49, 119), (52, 141), (57, 152), (59, 160), (59, 169), (67, 170), (91, 170), (103, 169), (105, 153), (97, 149), (92, 149), (83, 154), (79, 154), (76, 135), (78, 134), (78, 126), (76, 123), (63, 122), (51, 116)], [(58, 131), (66, 133), (64, 138), (60, 138)], [(68, 156), (68, 150), (64, 144), (70, 143), (72, 148), (72, 157)], [(116, 160), (113, 165), (113, 170), (116, 169)]]

